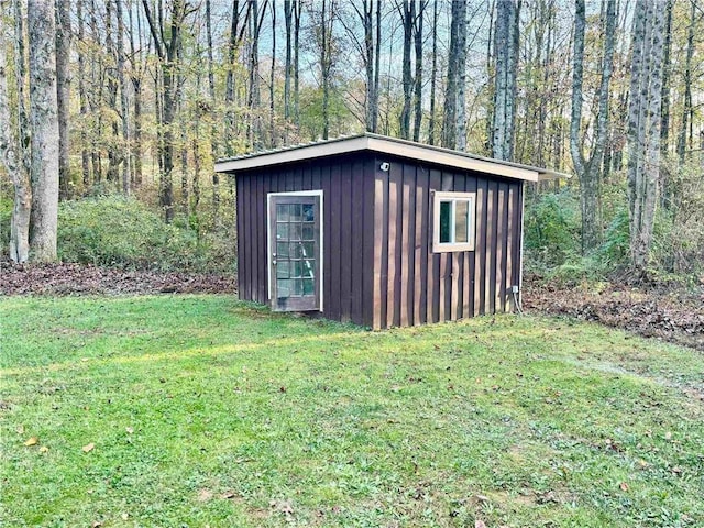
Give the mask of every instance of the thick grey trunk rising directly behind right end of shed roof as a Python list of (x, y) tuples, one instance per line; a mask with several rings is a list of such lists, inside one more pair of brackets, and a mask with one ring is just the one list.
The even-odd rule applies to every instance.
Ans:
[(520, 0), (496, 1), (492, 155), (497, 160), (512, 160), (514, 155), (520, 3)]

